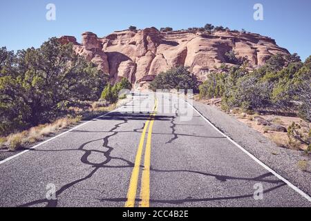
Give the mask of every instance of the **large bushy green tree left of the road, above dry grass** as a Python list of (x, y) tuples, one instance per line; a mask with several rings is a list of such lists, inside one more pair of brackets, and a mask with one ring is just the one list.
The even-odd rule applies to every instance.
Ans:
[(57, 38), (20, 50), (13, 66), (10, 73), (1, 67), (2, 132), (49, 122), (70, 104), (97, 100), (106, 84), (104, 73)]

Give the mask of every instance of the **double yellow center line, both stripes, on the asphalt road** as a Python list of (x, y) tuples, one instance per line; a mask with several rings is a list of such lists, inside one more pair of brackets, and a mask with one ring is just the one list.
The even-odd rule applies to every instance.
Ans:
[(125, 207), (134, 207), (136, 192), (138, 188), (138, 177), (140, 174), (140, 162), (142, 159), (142, 151), (144, 149), (144, 138), (146, 137), (147, 128), (149, 126), (146, 149), (144, 151), (144, 169), (142, 171), (142, 181), (140, 186), (140, 207), (149, 207), (150, 199), (150, 159), (151, 159), (151, 135), (154, 123), (154, 117), (158, 109), (158, 100), (156, 99), (156, 104), (153, 107), (153, 113), (150, 115), (146, 124), (144, 124), (144, 129), (142, 130), (142, 136), (140, 137), (140, 144), (138, 145), (138, 151), (135, 157), (135, 164), (133, 172), (131, 175), (131, 180), (129, 184), (129, 191), (127, 193), (127, 201)]

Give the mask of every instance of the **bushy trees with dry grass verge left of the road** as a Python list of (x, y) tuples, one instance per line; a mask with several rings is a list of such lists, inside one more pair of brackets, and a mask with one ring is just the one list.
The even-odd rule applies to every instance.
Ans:
[(131, 84), (112, 86), (113, 99), (104, 95), (107, 86), (108, 75), (57, 38), (17, 53), (0, 48), (0, 146), (15, 150), (110, 111), (115, 94)]

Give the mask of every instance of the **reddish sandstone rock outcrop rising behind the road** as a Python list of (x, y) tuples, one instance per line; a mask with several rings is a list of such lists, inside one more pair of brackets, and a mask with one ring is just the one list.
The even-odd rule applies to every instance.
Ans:
[[(79, 55), (84, 55), (105, 73), (111, 82), (128, 78), (133, 84), (147, 75), (157, 75), (173, 66), (189, 66), (198, 79), (221, 64), (230, 64), (226, 52), (234, 50), (247, 57), (254, 68), (262, 66), (272, 55), (288, 55), (274, 39), (236, 31), (212, 33), (193, 31), (160, 32), (156, 28), (123, 30), (100, 38), (92, 32), (82, 34), (82, 44), (75, 37), (61, 37), (72, 42)], [(143, 81), (145, 82), (145, 81)]]

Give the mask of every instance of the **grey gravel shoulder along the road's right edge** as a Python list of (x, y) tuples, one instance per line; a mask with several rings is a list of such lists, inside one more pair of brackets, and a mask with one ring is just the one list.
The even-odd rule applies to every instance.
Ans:
[[(276, 173), (279, 173), (299, 189), (311, 195), (310, 157), (302, 151), (292, 151), (276, 146), (258, 131), (218, 110), (215, 106), (194, 101), (194, 107), (220, 131), (223, 131), (232, 140), (243, 146), (258, 160), (261, 160)], [(299, 160), (308, 160), (309, 167), (307, 171), (299, 169)]]

